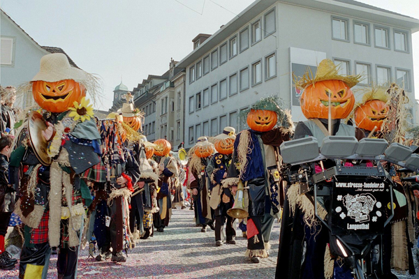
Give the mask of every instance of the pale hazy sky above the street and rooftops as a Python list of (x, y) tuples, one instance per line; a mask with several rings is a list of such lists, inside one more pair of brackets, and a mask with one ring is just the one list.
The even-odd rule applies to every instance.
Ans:
[[(358, 0), (419, 19), (419, 0)], [(101, 77), (112, 106), (121, 81), (131, 91), (148, 75), (162, 75), (170, 59), (193, 50), (198, 33), (215, 33), (253, 0), (0, 0), (0, 7), (39, 45), (61, 47), (75, 63)], [(412, 36), (419, 88), (419, 32)], [(419, 90), (416, 92), (419, 99)]]

